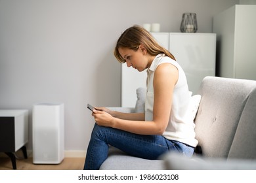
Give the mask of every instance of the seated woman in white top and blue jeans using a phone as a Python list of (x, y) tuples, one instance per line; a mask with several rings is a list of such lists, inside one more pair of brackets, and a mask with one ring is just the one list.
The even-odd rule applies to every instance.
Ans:
[(99, 169), (108, 156), (108, 146), (145, 159), (158, 159), (169, 151), (191, 157), (194, 125), (188, 117), (190, 93), (186, 76), (174, 56), (139, 25), (119, 37), (114, 55), (127, 67), (147, 69), (144, 113), (122, 113), (95, 107), (95, 127), (87, 149), (84, 169)]

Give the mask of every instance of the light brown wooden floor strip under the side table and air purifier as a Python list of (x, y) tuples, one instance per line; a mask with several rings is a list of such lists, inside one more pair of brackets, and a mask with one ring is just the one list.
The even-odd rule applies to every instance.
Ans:
[[(2, 155), (2, 154), (1, 154)], [(16, 159), (17, 170), (82, 170), (85, 158), (64, 158), (60, 164), (33, 164), (33, 158)], [(0, 170), (12, 170), (11, 158), (8, 156), (0, 157)]]

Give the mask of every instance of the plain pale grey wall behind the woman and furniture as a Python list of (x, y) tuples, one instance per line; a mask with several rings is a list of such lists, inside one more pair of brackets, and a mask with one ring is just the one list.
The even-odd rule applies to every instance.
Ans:
[(196, 12), (198, 32), (233, 0), (0, 0), (0, 109), (65, 105), (65, 150), (86, 150), (94, 121), (87, 103), (119, 106), (116, 40), (133, 24), (158, 22), (179, 32), (183, 12)]

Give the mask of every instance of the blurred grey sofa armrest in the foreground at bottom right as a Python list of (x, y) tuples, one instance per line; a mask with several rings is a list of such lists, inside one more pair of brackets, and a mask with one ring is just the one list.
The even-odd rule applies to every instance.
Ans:
[(169, 152), (161, 157), (166, 169), (173, 170), (255, 170), (255, 159), (224, 159), (194, 156), (187, 158), (182, 154)]

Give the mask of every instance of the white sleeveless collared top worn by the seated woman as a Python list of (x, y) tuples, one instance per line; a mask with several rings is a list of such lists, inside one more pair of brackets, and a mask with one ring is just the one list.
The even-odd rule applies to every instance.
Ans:
[(154, 58), (152, 61), (152, 64), (147, 71), (148, 78), (145, 103), (145, 120), (153, 120), (154, 72), (161, 63), (171, 63), (177, 67), (179, 71), (179, 78), (173, 91), (173, 103), (171, 105), (169, 124), (163, 133), (163, 137), (196, 147), (198, 141), (195, 139), (196, 133), (194, 132), (194, 122), (189, 116), (191, 112), (188, 107), (191, 95), (188, 91), (186, 75), (177, 61), (165, 56), (164, 54), (158, 54), (158, 56), (156, 56), (156, 58)]

